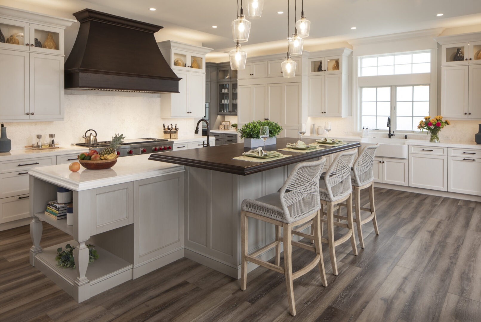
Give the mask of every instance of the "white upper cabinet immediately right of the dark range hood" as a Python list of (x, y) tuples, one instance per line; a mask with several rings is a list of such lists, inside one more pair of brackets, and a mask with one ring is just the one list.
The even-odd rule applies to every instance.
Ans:
[(157, 45), (177, 77), (182, 78), (179, 93), (161, 94), (161, 117), (204, 117), (205, 54), (212, 49), (173, 40)]

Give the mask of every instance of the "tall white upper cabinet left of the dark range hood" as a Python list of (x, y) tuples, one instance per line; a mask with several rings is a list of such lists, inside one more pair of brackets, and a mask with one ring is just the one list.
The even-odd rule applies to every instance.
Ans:
[(0, 119), (63, 119), (63, 31), (74, 22), (0, 6)]

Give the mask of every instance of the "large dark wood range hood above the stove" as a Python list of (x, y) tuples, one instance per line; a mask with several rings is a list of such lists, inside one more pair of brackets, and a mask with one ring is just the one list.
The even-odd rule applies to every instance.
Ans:
[(178, 93), (180, 78), (159, 50), (162, 26), (84, 9), (65, 62), (65, 89)]

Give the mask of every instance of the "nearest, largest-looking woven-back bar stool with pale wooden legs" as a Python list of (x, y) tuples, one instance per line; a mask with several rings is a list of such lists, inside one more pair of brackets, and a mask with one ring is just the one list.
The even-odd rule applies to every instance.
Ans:
[[(322, 285), (327, 286), (324, 260), (322, 257), (319, 213), (321, 207), (319, 199), (319, 177), (325, 163), (325, 158), (314, 162), (299, 163), (291, 171), (286, 182), (284, 182), (284, 185), (279, 189), (279, 192), (255, 200), (244, 199), (241, 205), (241, 290), (245, 290), (247, 286), (248, 261), (284, 274), (286, 277), (289, 309), (293, 316), (296, 315), (294, 290), (292, 286), (294, 279), (304, 275), (317, 266), (321, 275)], [(252, 254), (247, 254), (249, 235), (248, 217), (276, 225), (276, 240)], [(311, 234), (304, 234), (293, 230), (295, 226), (306, 222), (313, 222)], [(283, 236), (280, 235), (281, 228), (283, 229)], [(313, 239), (315, 246), (293, 241), (293, 234)], [(284, 267), (280, 266), (281, 242), (284, 245)], [(292, 272), (292, 246), (308, 249), (316, 253), (313, 261), (296, 272)], [(257, 256), (272, 248), (276, 248), (276, 264), (257, 258)]]

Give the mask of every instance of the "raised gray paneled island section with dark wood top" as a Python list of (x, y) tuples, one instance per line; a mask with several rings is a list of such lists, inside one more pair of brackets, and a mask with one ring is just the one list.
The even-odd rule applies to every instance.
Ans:
[[(297, 138), (278, 138), (276, 146), (266, 146), (266, 149), (282, 149), (288, 142), (296, 141)], [(315, 140), (304, 138), (304, 142)], [(276, 192), (298, 162), (318, 160), (360, 146), (359, 142), (348, 142), (307, 153), (280, 151), (291, 156), (263, 163), (232, 159), (249, 150), (243, 143), (154, 153), (149, 159), (186, 167), (184, 256), (240, 278), (242, 200)], [(249, 218), (249, 252), (274, 240), (274, 225)], [(268, 260), (273, 256), (274, 249), (262, 258)], [(255, 267), (257, 265), (249, 263), (248, 270)]]

